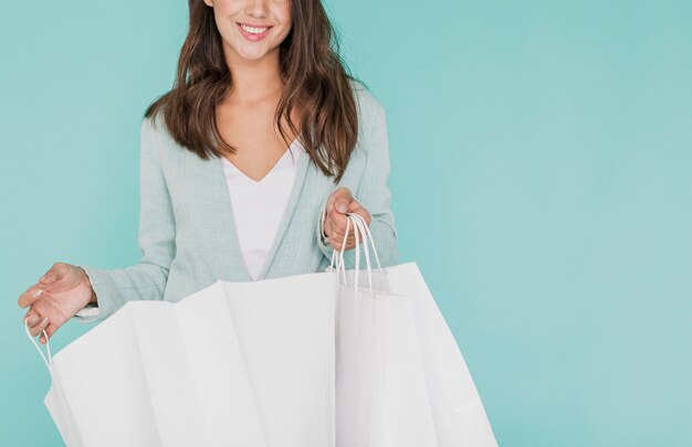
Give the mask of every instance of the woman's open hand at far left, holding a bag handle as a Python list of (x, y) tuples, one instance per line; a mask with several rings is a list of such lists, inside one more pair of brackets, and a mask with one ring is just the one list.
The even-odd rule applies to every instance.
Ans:
[[(36, 337), (45, 330), (51, 338), (87, 304), (96, 302), (96, 296), (88, 276), (81, 267), (55, 263), (19, 297), (18, 302), (21, 308), (30, 306), (24, 316), (29, 332)], [(45, 344), (45, 336), (42, 334), (39, 341)]]

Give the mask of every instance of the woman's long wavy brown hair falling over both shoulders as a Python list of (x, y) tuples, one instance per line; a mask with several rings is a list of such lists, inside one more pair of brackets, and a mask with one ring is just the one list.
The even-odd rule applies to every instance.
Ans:
[[(357, 105), (349, 84), (357, 79), (339, 56), (338, 36), (322, 1), (290, 1), (293, 23), (280, 45), (283, 91), (274, 121), (289, 145), (281, 123), (285, 117), (311, 160), (338, 182), (358, 136)], [(189, 14), (174, 87), (149, 105), (145, 117), (162, 108), (172, 139), (206, 160), (237, 150), (223, 140), (216, 120), (216, 106), (230, 91), (232, 78), (213, 9), (202, 0), (189, 0)], [(301, 111), (298, 129), (290, 119), (294, 108)]]

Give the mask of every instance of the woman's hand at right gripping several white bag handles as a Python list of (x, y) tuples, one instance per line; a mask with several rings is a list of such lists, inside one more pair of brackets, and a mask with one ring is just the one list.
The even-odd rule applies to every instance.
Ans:
[[(334, 249), (342, 249), (344, 234), (346, 233), (346, 213), (358, 214), (365, 219), (370, 225), (373, 217), (370, 213), (358, 203), (350, 194), (348, 188), (338, 188), (327, 198), (326, 216), (323, 224), (324, 235), (327, 242), (332, 244)], [(358, 244), (363, 242), (363, 234), (359, 234)], [(348, 237), (346, 238), (345, 249), (352, 249), (356, 246), (353, 224), (348, 226)]]

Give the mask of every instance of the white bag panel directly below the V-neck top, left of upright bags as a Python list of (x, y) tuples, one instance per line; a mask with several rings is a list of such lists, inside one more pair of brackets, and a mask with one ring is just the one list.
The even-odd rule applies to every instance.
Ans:
[(223, 287), (269, 445), (333, 446), (334, 277)]

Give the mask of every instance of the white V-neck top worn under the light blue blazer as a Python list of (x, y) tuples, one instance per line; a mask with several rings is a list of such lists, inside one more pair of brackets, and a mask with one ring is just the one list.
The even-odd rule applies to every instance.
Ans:
[[(256, 280), (274, 242), (293, 190), (295, 171), (304, 149), (293, 140), (283, 157), (260, 181), (254, 181), (221, 157), (240, 249), (252, 279)], [(293, 153), (293, 157), (291, 157)]]

